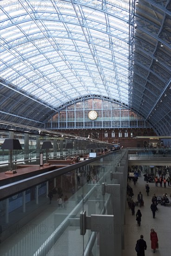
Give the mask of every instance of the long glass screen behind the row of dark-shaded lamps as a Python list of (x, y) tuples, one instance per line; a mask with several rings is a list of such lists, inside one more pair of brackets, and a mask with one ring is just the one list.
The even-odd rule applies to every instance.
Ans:
[[(98, 155), (107, 151), (110, 152), (112, 145), (106, 142), (87, 139), (71, 139), (68, 137), (33, 135), (31, 133), (20, 133), (16, 131), (0, 131), (0, 148), (6, 139), (18, 139), (22, 150), (13, 150), (12, 166), (17, 169), (21, 164), (39, 165), (39, 154), (43, 152), (44, 163), (47, 159), (65, 160), (71, 157), (88, 157), (90, 152), (97, 152)], [(51, 141), (53, 148), (41, 149), (44, 141)], [(9, 150), (0, 149), (0, 172), (5, 172), (9, 169)]]

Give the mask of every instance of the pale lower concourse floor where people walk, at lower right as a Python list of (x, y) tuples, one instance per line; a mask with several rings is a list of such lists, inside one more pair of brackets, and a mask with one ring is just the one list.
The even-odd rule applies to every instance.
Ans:
[[(166, 177), (168, 177), (168, 175), (166, 175)], [(155, 183), (148, 183), (150, 192), (149, 196), (147, 196), (145, 192), (146, 182), (144, 181), (143, 175), (138, 177), (136, 185), (134, 185), (132, 181), (128, 181), (128, 184), (132, 187), (134, 192), (133, 200), (137, 200), (138, 193), (141, 191), (145, 204), (141, 208), (138, 206), (135, 207), (135, 216), (132, 216), (131, 209), (126, 205), (125, 249), (122, 250), (122, 256), (137, 256), (135, 245), (137, 240), (140, 239), (140, 235), (144, 236), (144, 240), (147, 243), (145, 256), (171, 256), (171, 204), (167, 206), (158, 204), (158, 212), (156, 212), (155, 219), (153, 219), (150, 208), (153, 194), (163, 195), (164, 193), (167, 193), (171, 200), (171, 185), (169, 187), (168, 184), (166, 184), (166, 188), (164, 188), (164, 184), (162, 187), (160, 187), (159, 184), (158, 187), (155, 187)], [(138, 227), (136, 221), (136, 212), (138, 209), (140, 209), (142, 214), (140, 227)], [(155, 229), (158, 235), (159, 248), (156, 249), (155, 253), (153, 253), (153, 249), (151, 249), (151, 229)]]

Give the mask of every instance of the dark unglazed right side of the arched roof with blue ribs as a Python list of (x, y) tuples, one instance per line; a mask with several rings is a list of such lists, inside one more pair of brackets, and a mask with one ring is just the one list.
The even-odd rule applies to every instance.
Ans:
[(131, 108), (171, 135), (171, 1), (138, 1)]

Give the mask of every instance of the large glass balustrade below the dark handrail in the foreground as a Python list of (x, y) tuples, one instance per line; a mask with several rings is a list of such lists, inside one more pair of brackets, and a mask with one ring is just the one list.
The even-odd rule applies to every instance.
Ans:
[(99, 255), (96, 232), (80, 235), (80, 212), (107, 214), (110, 195), (102, 195), (101, 187), (111, 183), (110, 172), (121, 154), (102, 155), (69, 171), (63, 168), (61, 175), (54, 170), (6, 185), (3, 191), (12, 193), (5, 191), (11, 196), (0, 201), (1, 256), (83, 255), (90, 241), (94, 255)]

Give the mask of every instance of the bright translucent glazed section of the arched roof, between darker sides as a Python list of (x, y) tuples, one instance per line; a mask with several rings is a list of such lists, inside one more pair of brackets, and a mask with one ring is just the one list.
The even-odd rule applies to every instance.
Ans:
[(112, 0), (102, 10), (101, 3), (14, 0), (1, 5), (2, 78), (53, 107), (83, 94), (127, 104), (128, 7)]

